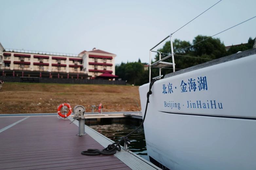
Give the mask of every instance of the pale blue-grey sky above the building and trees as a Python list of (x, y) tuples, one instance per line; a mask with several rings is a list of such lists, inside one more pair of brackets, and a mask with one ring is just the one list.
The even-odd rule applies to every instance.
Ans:
[[(149, 62), (149, 50), (219, 0), (0, 0), (4, 48), (78, 54), (93, 48), (116, 64)], [(255, 0), (222, 0), (173, 38), (192, 42), (256, 16)], [(256, 18), (217, 35), (226, 46), (256, 36)], [(161, 48), (163, 44), (156, 49)]]

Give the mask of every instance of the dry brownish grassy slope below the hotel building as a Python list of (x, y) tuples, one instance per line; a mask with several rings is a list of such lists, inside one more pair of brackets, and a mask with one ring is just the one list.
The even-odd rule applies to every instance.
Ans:
[(100, 103), (103, 112), (141, 110), (138, 86), (5, 82), (0, 96), (0, 114), (54, 113), (62, 103), (86, 112)]

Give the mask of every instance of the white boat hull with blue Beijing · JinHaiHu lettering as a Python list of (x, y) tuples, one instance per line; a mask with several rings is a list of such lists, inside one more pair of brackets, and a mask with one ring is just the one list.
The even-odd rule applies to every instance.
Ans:
[[(255, 65), (254, 54), (154, 83), (144, 129), (147, 152), (156, 165), (255, 169)], [(148, 90), (149, 83), (139, 87), (143, 117)]]

